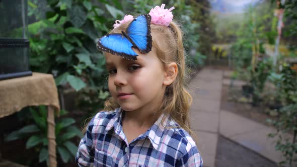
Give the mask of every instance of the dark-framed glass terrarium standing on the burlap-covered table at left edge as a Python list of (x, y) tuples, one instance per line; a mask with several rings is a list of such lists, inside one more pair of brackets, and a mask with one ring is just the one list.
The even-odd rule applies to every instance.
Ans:
[(27, 8), (27, 0), (0, 0), (0, 80), (32, 75)]

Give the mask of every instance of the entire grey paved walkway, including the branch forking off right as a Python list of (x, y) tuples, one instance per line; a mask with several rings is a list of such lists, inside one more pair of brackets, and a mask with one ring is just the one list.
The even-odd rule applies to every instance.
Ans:
[[(204, 166), (215, 166), (218, 135), (249, 148), (274, 162), (282, 160), (274, 150), (274, 140), (267, 134), (273, 128), (253, 120), (220, 110), (224, 72), (204, 68), (191, 81), (189, 91), (193, 97), (191, 128), (197, 136), (197, 147)], [(232, 159), (230, 159), (232, 161)]]

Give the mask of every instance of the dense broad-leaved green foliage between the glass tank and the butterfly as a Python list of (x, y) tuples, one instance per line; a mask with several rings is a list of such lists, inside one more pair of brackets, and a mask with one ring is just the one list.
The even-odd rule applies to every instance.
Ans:
[(29, 3), (32, 15), (40, 19), (38, 24), (29, 25), (32, 70), (56, 73), (58, 86), (68, 85), (76, 91), (86, 87), (102, 90), (106, 86), (102, 79), (105, 60), (96, 49), (96, 38), (108, 32), (106, 15), (122, 13), (105, 4), (110, 12), (106, 14), (105, 9), (87, 0), (47, 1), (42, 18), (36, 12), (40, 4)]

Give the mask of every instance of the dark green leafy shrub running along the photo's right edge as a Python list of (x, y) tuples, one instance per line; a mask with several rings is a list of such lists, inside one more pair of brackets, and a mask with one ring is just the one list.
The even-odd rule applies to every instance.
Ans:
[[(280, 73), (271, 73), (269, 79), (278, 92), (276, 98), (285, 106), (278, 111), (280, 117), (276, 121), (268, 120), (277, 129), (269, 137), (278, 136), (275, 149), (281, 151), (286, 158), (286, 161), (280, 163), (293, 166), (293, 162), (297, 162), (297, 73), (290, 64), (282, 64)], [(287, 138), (284, 133), (293, 133), (293, 139)]]

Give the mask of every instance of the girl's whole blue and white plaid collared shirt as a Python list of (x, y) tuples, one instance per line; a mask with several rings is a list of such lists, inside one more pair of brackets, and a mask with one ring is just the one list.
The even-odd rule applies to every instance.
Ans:
[(120, 109), (96, 114), (79, 145), (79, 166), (202, 166), (194, 140), (170, 117), (162, 115), (130, 144), (121, 118)]

